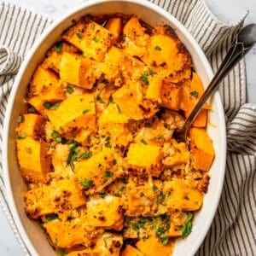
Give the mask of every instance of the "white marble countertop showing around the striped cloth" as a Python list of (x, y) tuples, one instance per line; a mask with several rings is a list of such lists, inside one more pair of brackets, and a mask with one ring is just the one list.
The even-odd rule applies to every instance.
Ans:
[[(33, 12), (55, 19), (65, 13), (67, 9), (84, 2), (83, 0), (4, 0), (8, 3), (15, 3), (23, 8), (31, 9)], [(256, 23), (256, 1), (255, 0), (205, 0), (212, 13), (219, 20), (232, 24), (241, 15), (249, 11), (246, 23)], [(247, 55), (247, 101), (256, 103), (256, 47)], [(22, 255), (20, 246), (9, 227), (7, 218), (0, 207), (0, 255), (15, 256)]]

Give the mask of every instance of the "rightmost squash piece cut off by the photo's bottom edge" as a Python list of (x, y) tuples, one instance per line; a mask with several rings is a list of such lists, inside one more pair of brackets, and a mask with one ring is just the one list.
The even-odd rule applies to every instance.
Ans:
[(170, 256), (174, 248), (174, 242), (163, 245), (155, 236), (137, 241), (136, 247), (147, 256), (155, 256), (157, 252), (160, 256)]

